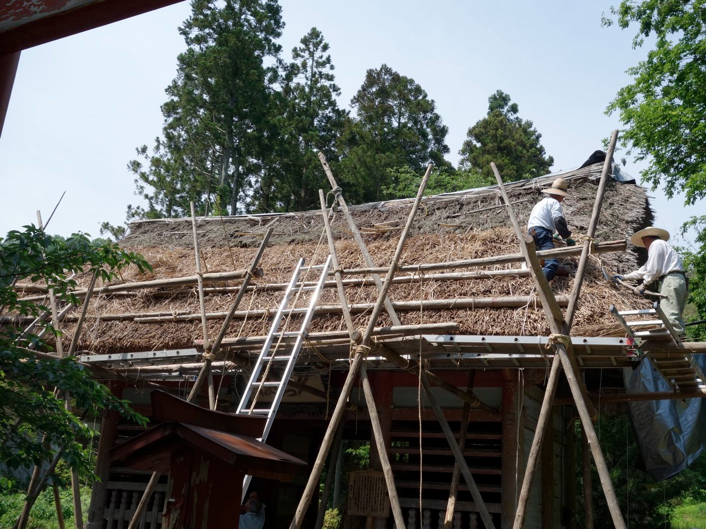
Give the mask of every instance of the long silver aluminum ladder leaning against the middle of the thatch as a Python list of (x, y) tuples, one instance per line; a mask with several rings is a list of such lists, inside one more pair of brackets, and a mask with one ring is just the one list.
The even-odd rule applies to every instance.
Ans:
[[(275, 421), (275, 415), (277, 415), (277, 408), (282, 402), (282, 397), (285, 395), (285, 389), (287, 388), (287, 382), (289, 382), (289, 377), (292, 376), (294, 372), (294, 365), (297, 363), (297, 358), (299, 357), (299, 351), (301, 350), (301, 344), (304, 342), (304, 338), (307, 334), (307, 329), (311, 323), (311, 318), (313, 317), (313, 311), (318, 304), (318, 300), (321, 297), (321, 292), (323, 291), (323, 286), (328, 277), (328, 272), (331, 267), (332, 257), (329, 255), (328, 259), (323, 265), (316, 265), (309, 267), (309, 269), (321, 270), (321, 276), (315, 286), (304, 286), (304, 283), (298, 285), (299, 276), (301, 275), (301, 270), (304, 269), (304, 257), (301, 257), (297, 263), (297, 267), (294, 269), (292, 274), (292, 279), (287, 284), (285, 289), (285, 296), (282, 298), (280, 307), (277, 309), (275, 314), (275, 319), (272, 322), (272, 327), (270, 327), (270, 332), (265, 339), (263, 348), (258, 355), (255, 365), (253, 366), (250, 379), (246, 385), (243, 396), (238, 404), (236, 413), (243, 413), (246, 415), (265, 415), (267, 417), (267, 422), (265, 422), (265, 428), (263, 434), (258, 439), (260, 441), (265, 441), (268, 434), (270, 433), (270, 428), (272, 428), (273, 422)], [(297, 292), (312, 291), (311, 299), (309, 300), (309, 307), (306, 308), (306, 312), (302, 311), (301, 308), (289, 307), (289, 302), (292, 300), (292, 294)], [(295, 297), (296, 300), (296, 297)], [(285, 315), (301, 314), (304, 312), (304, 321), (301, 322), (301, 329), (294, 332), (285, 332), (285, 329), (280, 331), (280, 325), (282, 324), (282, 317)], [(289, 339), (294, 338), (294, 343), (289, 345)], [(273, 349), (273, 342), (277, 339), (275, 343), (275, 348)], [(277, 354), (277, 348), (280, 341), (285, 340), (287, 343), (286, 352)], [(275, 367), (274, 370), (271, 370)], [(264, 368), (264, 372), (263, 372)], [(275, 397), (270, 403), (263, 404), (262, 407), (256, 408), (258, 396), (260, 392), (265, 388), (276, 388)], [(248, 485), (250, 485), (251, 476), (246, 475), (243, 481), (243, 498), (245, 499), (245, 494), (248, 490)]]

